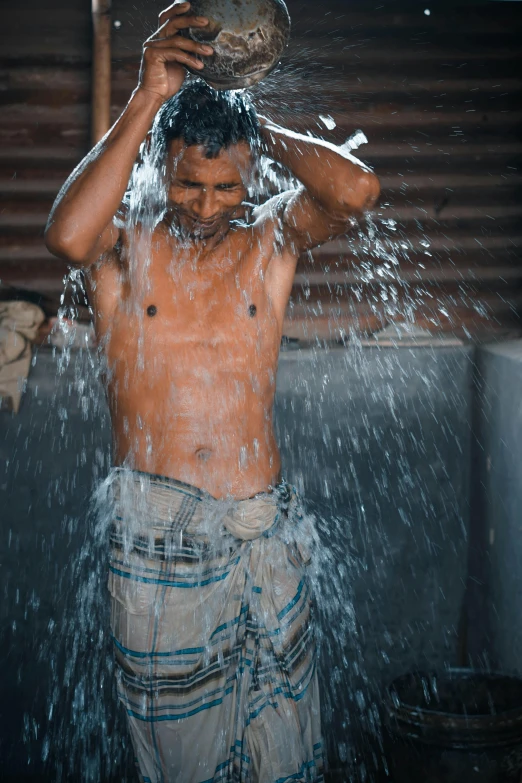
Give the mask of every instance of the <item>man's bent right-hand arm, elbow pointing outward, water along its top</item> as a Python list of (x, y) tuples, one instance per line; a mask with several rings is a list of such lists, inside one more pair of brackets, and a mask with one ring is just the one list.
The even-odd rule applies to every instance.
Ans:
[(260, 118), (264, 151), (288, 168), (301, 187), (287, 196), (283, 224), (299, 253), (346, 231), (350, 218), (372, 209), (379, 180), (341, 147)]

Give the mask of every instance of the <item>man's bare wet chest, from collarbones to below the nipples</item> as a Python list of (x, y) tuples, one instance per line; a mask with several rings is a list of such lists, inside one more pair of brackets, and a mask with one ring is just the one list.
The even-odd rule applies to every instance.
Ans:
[(234, 247), (205, 264), (160, 246), (129, 269), (107, 336), (114, 362), (176, 374), (263, 374), (281, 339), (263, 263)]

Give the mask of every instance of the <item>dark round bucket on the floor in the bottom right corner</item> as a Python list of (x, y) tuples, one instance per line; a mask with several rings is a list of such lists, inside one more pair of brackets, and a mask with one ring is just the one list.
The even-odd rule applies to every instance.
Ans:
[(414, 672), (385, 702), (393, 783), (520, 783), (522, 680), (472, 669)]

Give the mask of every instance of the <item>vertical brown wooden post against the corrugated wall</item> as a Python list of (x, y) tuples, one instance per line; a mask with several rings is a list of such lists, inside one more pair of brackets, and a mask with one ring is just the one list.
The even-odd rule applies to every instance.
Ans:
[(96, 144), (111, 127), (111, 0), (92, 0), (91, 140)]

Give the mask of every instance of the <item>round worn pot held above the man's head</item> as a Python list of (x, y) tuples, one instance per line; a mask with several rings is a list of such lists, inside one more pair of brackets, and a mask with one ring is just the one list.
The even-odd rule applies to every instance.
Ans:
[(210, 44), (197, 75), (216, 90), (237, 90), (261, 81), (279, 62), (290, 37), (283, 0), (191, 0), (190, 14), (206, 16), (204, 28), (190, 28), (194, 40)]

